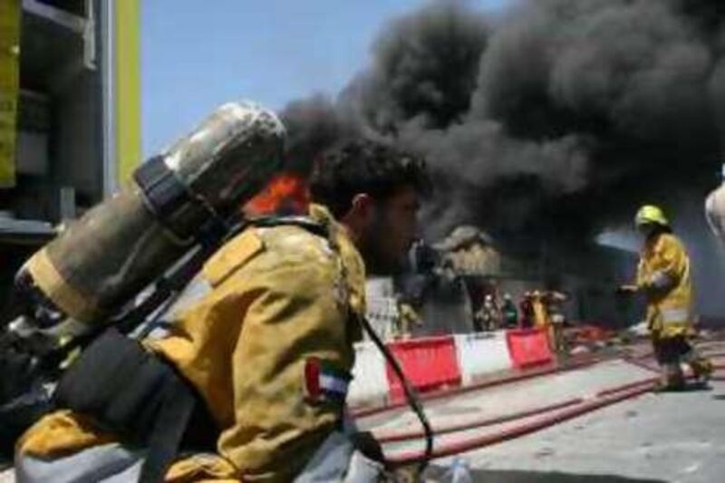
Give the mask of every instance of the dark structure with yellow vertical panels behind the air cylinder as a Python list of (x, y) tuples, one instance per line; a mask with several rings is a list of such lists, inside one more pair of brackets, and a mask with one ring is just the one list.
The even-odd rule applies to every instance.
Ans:
[(0, 304), (140, 160), (140, 2), (0, 2)]

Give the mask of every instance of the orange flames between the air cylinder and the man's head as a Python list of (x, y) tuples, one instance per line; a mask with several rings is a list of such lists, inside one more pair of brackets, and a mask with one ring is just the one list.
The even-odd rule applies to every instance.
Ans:
[(281, 173), (269, 181), (244, 207), (247, 216), (304, 215), (310, 205), (310, 190), (304, 178)]

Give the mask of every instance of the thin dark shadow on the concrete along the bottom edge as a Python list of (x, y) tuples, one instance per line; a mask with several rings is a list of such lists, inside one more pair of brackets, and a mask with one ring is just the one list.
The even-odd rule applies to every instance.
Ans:
[[(448, 469), (431, 466), (430, 481), (448, 483)], [(662, 479), (623, 478), (614, 475), (575, 475), (558, 471), (519, 471), (498, 469), (471, 469), (473, 483), (665, 483)]]

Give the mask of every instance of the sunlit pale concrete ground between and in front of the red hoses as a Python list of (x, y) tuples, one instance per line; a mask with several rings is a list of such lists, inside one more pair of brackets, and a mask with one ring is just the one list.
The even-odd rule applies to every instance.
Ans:
[[(547, 401), (556, 399), (553, 394), (557, 393), (565, 399), (603, 389), (602, 385), (631, 382), (633, 376), (636, 380), (652, 375), (637, 371), (626, 362), (606, 362), (556, 378), (535, 380), (528, 388), (527, 383), (522, 383), (488, 394), (482, 392), (468, 400), (459, 397), (439, 401), (428, 412), (435, 426), (437, 422), (471, 420), (474, 414), (480, 415), (474, 411), (477, 406), (487, 416), (501, 412), (492, 410), (497, 402), (506, 411), (517, 411), (522, 397)], [(385, 430), (399, 428), (394, 421), (403, 421), (402, 416), (392, 415), (391, 420), (374, 421), (372, 426)], [(523, 421), (444, 435), (436, 444), (505, 430), (520, 422)], [(385, 448), (394, 454), (421, 446), (420, 442), (395, 443)], [(712, 382), (710, 388), (685, 392), (646, 393), (459, 457), (469, 464), (474, 481), (487, 483), (725, 481), (725, 383)], [(442, 475), (452, 461), (453, 458), (434, 460), (429, 478), (450, 481)]]

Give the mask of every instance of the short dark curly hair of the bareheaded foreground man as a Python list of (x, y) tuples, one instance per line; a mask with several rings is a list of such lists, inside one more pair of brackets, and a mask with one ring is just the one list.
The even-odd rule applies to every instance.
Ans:
[(310, 190), (320, 203), (343, 217), (353, 198), (367, 194), (384, 201), (401, 188), (430, 192), (425, 161), (410, 152), (372, 140), (354, 140), (326, 151), (315, 160)]

